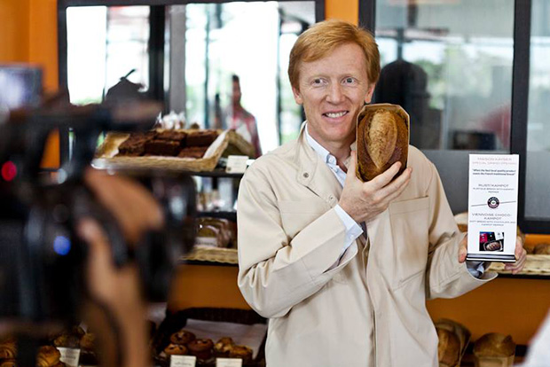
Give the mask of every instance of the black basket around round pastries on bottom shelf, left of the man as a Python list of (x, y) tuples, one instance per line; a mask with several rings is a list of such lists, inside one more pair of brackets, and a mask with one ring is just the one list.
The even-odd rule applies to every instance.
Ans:
[[(152, 347), (156, 355), (159, 355), (164, 347), (168, 346), (170, 335), (178, 332), (187, 324), (188, 319), (216, 321), (234, 324), (267, 324), (267, 319), (259, 316), (253, 310), (238, 308), (185, 308), (174, 314), (167, 314), (159, 326), (153, 341)], [(216, 341), (216, 340), (215, 340)], [(252, 363), (243, 364), (245, 367), (260, 367), (265, 361), (265, 338), (262, 346)], [(169, 361), (155, 357), (157, 363), (169, 365)], [(214, 367), (215, 364), (202, 364), (205, 367)]]

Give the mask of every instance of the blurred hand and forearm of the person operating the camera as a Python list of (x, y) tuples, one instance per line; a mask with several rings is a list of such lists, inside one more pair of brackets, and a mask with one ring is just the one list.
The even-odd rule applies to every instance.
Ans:
[[(93, 169), (86, 171), (84, 181), (114, 215), (128, 246), (136, 245), (147, 230), (161, 228), (161, 207), (139, 183)], [(85, 275), (90, 300), (84, 314), (98, 334), (101, 365), (121, 367), (121, 353), (122, 367), (151, 365), (137, 265), (114, 266), (109, 238), (95, 219), (81, 219), (77, 230), (89, 248)]]

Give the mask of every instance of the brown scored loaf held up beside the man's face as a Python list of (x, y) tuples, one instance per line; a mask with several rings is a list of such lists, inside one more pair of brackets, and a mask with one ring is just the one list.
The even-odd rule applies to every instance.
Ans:
[(358, 114), (358, 177), (366, 182), (397, 161), (405, 171), (409, 151), (409, 118), (397, 105), (365, 105)]

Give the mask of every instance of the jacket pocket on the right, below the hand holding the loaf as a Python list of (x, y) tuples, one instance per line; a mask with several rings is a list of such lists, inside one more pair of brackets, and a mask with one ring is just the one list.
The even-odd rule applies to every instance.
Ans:
[(395, 263), (394, 287), (420, 279), (428, 262), (429, 199), (397, 201), (389, 205)]

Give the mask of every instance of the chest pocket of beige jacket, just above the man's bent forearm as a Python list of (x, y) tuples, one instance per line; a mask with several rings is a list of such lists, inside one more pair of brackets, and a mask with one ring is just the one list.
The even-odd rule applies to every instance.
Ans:
[(280, 218), (283, 230), (288, 238), (294, 238), (296, 234), (324, 215), (330, 207), (324, 201), (319, 200), (279, 200)]

